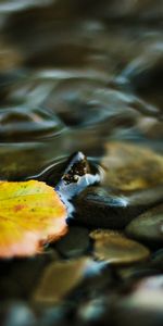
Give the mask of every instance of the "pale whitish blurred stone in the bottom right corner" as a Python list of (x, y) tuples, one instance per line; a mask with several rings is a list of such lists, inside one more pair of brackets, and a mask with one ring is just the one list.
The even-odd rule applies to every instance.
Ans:
[(125, 297), (116, 298), (114, 323), (122, 325), (161, 326), (163, 322), (162, 275), (145, 278)]

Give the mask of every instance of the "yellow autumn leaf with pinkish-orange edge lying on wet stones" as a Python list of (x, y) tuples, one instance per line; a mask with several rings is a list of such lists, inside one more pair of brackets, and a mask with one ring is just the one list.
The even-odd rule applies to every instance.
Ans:
[(0, 258), (26, 256), (66, 233), (66, 209), (45, 183), (0, 183)]

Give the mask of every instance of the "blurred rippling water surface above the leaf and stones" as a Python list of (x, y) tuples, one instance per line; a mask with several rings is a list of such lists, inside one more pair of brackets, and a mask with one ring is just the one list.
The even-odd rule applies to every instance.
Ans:
[[(162, 152), (162, 1), (0, 1), (0, 174), (109, 140)], [(2, 15), (3, 13), (3, 15)]]

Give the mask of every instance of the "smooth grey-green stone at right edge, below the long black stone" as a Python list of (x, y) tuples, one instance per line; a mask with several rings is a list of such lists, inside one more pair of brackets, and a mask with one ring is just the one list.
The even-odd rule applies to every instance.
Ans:
[(163, 242), (163, 204), (133, 220), (125, 231), (134, 239)]

